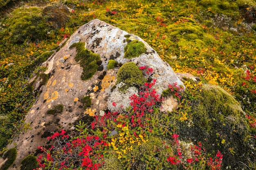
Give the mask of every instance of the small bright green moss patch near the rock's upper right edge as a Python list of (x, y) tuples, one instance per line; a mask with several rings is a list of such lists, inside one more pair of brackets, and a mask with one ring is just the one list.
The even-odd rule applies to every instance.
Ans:
[(139, 57), (139, 55), (146, 52), (145, 45), (138, 40), (133, 40), (124, 47), (124, 57), (125, 58), (135, 58)]

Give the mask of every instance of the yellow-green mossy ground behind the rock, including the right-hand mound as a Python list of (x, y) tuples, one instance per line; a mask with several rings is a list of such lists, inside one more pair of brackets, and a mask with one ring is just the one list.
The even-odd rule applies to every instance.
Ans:
[(210, 148), (209, 155), (216, 150), (226, 154), (225, 166), (239, 168), (244, 163), (255, 168), (255, 154), (248, 148), (248, 144), (255, 148), (256, 138), (255, 0), (56, 1), (70, 8), (59, 28), (46, 24), (54, 22), (49, 16), (55, 15), (52, 11), (42, 15), (42, 2), (0, 0), (4, 9), (0, 10), (0, 148), (13, 132), (22, 130), (22, 118), (34, 101), (28, 80), (44, 69), (40, 63), (49, 51), (79, 26), (98, 18), (144, 39), (175, 72), (192, 73), (202, 83), (218, 85), (234, 96), (243, 111), (218, 87), (185, 83), (186, 100), (168, 114), (173, 122), (168, 126), (184, 140), (202, 142)]

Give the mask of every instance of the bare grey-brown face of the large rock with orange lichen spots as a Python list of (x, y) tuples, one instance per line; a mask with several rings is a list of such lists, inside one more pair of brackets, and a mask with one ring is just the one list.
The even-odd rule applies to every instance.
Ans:
[[(130, 35), (129, 40), (141, 41), (146, 52), (136, 58), (124, 58), (124, 47), (128, 43), (128, 36), (125, 35)], [(70, 48), (78, 42), (84, 42), (85, 48), (99, 54), (101, 58), (97, 62), (98, 71), (87, 81), (81, 80), (83, 68), (79, 64), (81, 61), (75, 60), (77, 49)], [(26, 115), (25, 125), (30, 128), (14, 137), (13, 142), (7, 146), (16, 147), (18, 151), (17, 159), (9, 169), (20, 169), (20, 162), (27, 155), (36, 156), (38, 146), (46, 146), (46, 137), (56, 129), (74, 129), (79, 120), (90, 125), (94, 114), (101, 116), (102, 110), (107, 109), (107, 99), (111, 88), (116, 85), (119, 70), (119, 65), (111, 70), (107, 69), (110, 59), (117, 61), (119, 65), (132, 61), (138, 67), (153, 68), (152, 77), (157, 78), (155, 89), (160, 95), (169, 84), (177, 82), (178, 85), (183, 85), (170, 65), (162, 61), (155, 50), (141, 38), (100, 20), (92, 20), (81, 26), (63, 48), (43, 63), (48, 68), (44, 74), (48, 74), (49, 80), (40, 87), (40, 96)], [(34, 79), (40, 81), (38, 78)], [(82, 100), (85, 96), (90, 96), (92, 103), (86, 111)]]

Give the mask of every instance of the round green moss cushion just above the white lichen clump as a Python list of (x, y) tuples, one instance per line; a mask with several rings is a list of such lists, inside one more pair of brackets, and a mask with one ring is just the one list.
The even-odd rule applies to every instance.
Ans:
[(117, 72), (117, 83), (125, 83), (127, 89), (128, 87), (141, 87), (146, 79), (143, 77), (142, 71), (139, 70), (138, 66), (133, 63), (124, 63)]

